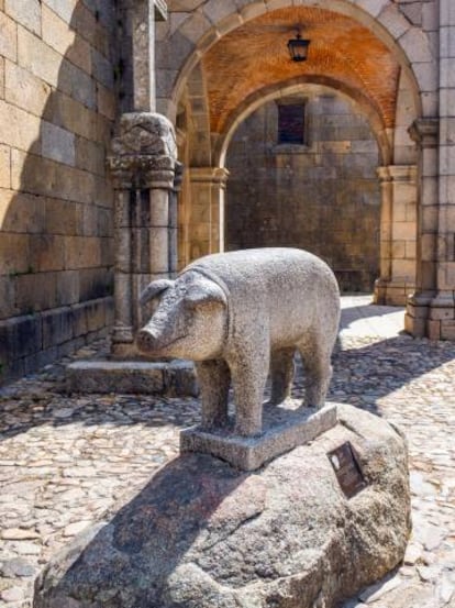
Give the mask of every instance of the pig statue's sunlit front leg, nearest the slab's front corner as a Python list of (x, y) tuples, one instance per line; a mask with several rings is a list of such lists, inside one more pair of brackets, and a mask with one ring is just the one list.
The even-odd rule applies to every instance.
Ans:
[(238, 349), (229, 361), (235, 399), (235, 433), (258, 435), (263, 431), (263, 398), (270, 353), (268, 344)]

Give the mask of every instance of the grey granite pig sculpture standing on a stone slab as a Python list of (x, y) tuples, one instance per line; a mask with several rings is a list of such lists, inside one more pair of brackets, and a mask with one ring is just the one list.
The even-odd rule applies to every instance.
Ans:
[(202, 257), (176, 280), (151, 283), (141, 303), (159, 299), (136, 338), (141, 352), (196, 362), (202, 425), (228, 423), (232, 379), (234, 432), (262, 431), (262, 400), (271, 373), (273, 404), (288, 397), (293, 355), (306, 367), (304, 405), (322, 407), (332, 374), (340, 292), (329, 266), (293, 248), (258, 248)]

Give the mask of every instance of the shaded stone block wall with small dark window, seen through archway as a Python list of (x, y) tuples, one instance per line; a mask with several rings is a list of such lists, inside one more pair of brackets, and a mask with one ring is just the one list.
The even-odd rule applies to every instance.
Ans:
[(378, 146), (337, 95), (307, 98), (304, 145), (277, 145), (275, 101), (249, 115), (229, 148), (226, 248), (295, 246), (325, 259), (346, 291), (379, 276)]

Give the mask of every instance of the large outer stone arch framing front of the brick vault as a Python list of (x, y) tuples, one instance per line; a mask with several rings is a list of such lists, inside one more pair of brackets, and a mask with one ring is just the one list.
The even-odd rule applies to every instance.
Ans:
[[(169, 4), (171, 10), (173, 2)], [(434, 108), (437, 65), (431, 53), (429, 37), (421, 29), (413, 26), (391, 0), (375, 3), (368, 0), (357, 0), (355, 3), (354, 0), (263, 0), (241, 2), (240, 8), (232, 0), (223, 3), (209, 0), (200, 4), (193, 2), (198, 10), (178, 13), (178, 22), (173, 24), (171, 19), (169, 24), (162, 25), (158, 31), (157, 68), (165, 77), (157, 90), (157, 103), (158, 109), (170, 120), (175, 120), (177, 102), (187, 78), (213, 44), (255, 18), (296, 5), (319, 7), (347, 15), (365, 25), (397, 57), (400, 67), (414, 84), (417, 113), (426, 115)], [(178, 53), (173, 52), (175, 48), (178, 48)], [(433, 65), (433, 69), (428, 69), (429, 64)], [(430, 81), (429, 73), (434, 75)]]

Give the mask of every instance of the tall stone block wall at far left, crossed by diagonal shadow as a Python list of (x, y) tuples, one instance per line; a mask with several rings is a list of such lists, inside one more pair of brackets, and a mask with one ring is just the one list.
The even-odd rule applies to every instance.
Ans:
[(0, 382), (111, 322), (113, 7), (0, 0)]

